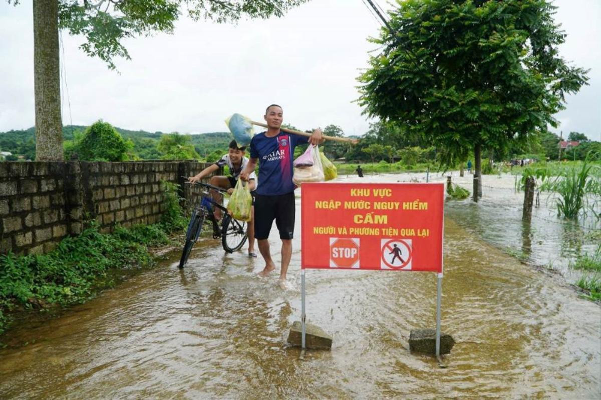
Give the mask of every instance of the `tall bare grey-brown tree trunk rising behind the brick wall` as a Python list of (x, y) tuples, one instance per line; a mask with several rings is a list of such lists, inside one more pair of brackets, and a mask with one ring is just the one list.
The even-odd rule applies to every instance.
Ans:
[(35, 159), (63, 160), (58, 0), (33, 0)]

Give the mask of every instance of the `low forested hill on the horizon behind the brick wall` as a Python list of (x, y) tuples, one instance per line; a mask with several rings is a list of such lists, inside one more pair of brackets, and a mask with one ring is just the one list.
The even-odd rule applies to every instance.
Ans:
[[(63, 139), (72, 140), (73, 134), (86, 130), (83, 125), (66, 125), (63, 127)], [(156, 144), (159, 143), (163, 132), (132, 131), (114, 127), (124, 139), (131, 139), (134, 143), (133, 151), (145, 160), (159, 158)], [(210, 132), (191, 135), (192, 143), (198, 154), (206, 157), (215, 151), (227, 151), (228, 144), (233, 139), (229, 132)], [(0, 132), (0, 151), (10, 151), (14, 155), (23, 155), (27, 160), (35, 158), (35, 128), (27, 130), (11, 130)]]

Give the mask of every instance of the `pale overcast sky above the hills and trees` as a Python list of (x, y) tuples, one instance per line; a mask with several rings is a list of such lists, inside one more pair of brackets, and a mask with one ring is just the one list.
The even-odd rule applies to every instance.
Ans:
[[(379, 0), (385, 6), (384, 0)], [(561, 54), (590, 68), (590, 86), (567, 98), (560, 130), (601, 140), (601, 1), (557, 0), (556, 21), (567, 33)], [(0, 0), (0, 131), (34, 125), (31, 0)], [(284, 122), (310, 129), (339, 125), (363, 134), (356, 77), (367, 67), (379, 23), (362, 0), (313, 0), (281, 19), (238, 25), (182, 17), (174, 34), (126, 41), (132, 61), (120, 74), (78, 49), (81, 37), (61, 34), (63, 124), (97, 119), (130, 130), (227, 131), (242, 113), (261, 121), (264, 107), (284, 107)], [(65, 79), (63, 77), (63, 85)], [(558, 130), (559, 131), (559, 130)]]

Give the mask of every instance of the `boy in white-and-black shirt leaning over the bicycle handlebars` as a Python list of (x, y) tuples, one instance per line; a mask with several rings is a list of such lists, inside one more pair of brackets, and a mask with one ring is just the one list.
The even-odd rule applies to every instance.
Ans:
[[(227, 193), (231, 194), (234, 191), (234, 187), (236, 187), (236, 183), (238, 181), (240, 172), (246, 167), (246, 163), (248, 163), (248, 158), (245, 157), (246, 147), (243, 146), (241, 148), (238, 147), (236, 140), (232, 140), (230, 142), (230, 148), (228, 149), (228, 153), (221, 157), (221, 160), (217, 161), (215, 164), (206, 167), (200, 173), (195, 176), (191, 176), (188, 178), (188, 181), (191, 183), (195, 183), (203, 179), (204, 177), (212, 174), (219, 170), (219, 168), (223, 166), (228, 166), (230, 169), (230, 176), (223, 175), (215, 175), (212, 176), (209, 183), (213, 186), (227, 189)], [(256, 186), (256, 176), (255, 173), (252, 172), (249, 176), (248, 180), (248, 188), (251, 190), (251, 194), (253, 194), (254, 199), (254, 190)], [(213, 200), (216, 202), (221, 201), (221, 197), (219, 193), (215, 190), (211, 191), (211, 196)], [(215, 219), (219, 221), (221, 219), (221, 210), (215, 207), (214, 211)], [(254, 207), (251, 208), (251, 221), (248, 222), (248, 228), (246, 232), (248, 233), (248, 255), (249, 257), (257, 257), (255, 253), (255, 229), (254, 229)]]

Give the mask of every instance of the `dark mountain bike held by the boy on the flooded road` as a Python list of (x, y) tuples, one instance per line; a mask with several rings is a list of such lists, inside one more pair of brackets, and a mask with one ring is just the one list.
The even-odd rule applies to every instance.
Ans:
[[(228, 253), (239, 250), (248, 237), (246, 234), (246, 222), (232, 218), (224, 206), (210, 197), (210, 190), (218, 191), (222, 195), (226, 194), (227, 190), (202, 182), (196, 182), (194, 185), (201, 187), (200, 201), (197, 200), (195, 202), (194, 211), (192, 211), (192, 216), (188, 224), (186, 242), (184, 243), (182, 258), (180, 259), (180, 268), (183, 268), (186, 262), (188, 262), (192, 247), (194, 247), (194, 243), (196, 243), (200, 232), (203, 230), (203, 224), (207, 221), (212, 223), (213, 239), (221, 237), (221, 244)], [(221, 227), (215, 215), (213, 215), (214, 207), (220, 209), (223, 213), (222, 215), (224, 215)]]

